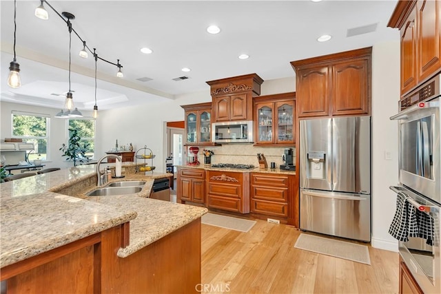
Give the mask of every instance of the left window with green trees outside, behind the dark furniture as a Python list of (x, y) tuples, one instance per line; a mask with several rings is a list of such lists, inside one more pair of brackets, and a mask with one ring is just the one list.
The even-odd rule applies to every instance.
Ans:
[(12, 112), (12, 137), (34, 143), (34, 151), (30, 151), (29, 160), (48, 159), (49, 122), (48, 114)]

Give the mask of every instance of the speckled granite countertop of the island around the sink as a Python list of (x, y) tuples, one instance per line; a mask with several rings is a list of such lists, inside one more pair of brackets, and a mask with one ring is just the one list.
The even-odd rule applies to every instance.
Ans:
[[(135, 165), (123, 162), (123, 167)], [(130, 245), (117, 253), (123, 258), (203, 216), (202, 207), (147, 198), (154, 178), (169, 176), (127, 174), (123, 180), (142, 178), (146, 184), (125, 196), (85, 197), (93, 187), (76, 197), (55, 192), (96, 180), (94, 165), (1, 183), (0, 267), (130, 221)]]

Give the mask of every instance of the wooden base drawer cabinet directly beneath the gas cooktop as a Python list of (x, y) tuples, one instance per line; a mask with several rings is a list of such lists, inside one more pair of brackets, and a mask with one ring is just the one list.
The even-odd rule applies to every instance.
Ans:
[(207, 207), (249, 213), (249, 173), (207, 171)]

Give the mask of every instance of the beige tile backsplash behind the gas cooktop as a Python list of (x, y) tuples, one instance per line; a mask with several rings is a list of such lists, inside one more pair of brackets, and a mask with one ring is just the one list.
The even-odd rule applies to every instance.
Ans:
[[(203, 162), (203, 149), (214, 152), (212, 164), (214, 163), (240, 163), (243, 165), (258, 166), (257, 154), (262, 153), (269, 162), (276, 162), (276, 166), (283, 164), (282, 156), (285, 154), (285, 147), (254, 147), (252, 144), (225, 144), (222, 146), (200, 147), (199, 161)], [(294, 162), (296, 162), (296, 147), (294, 150)]]

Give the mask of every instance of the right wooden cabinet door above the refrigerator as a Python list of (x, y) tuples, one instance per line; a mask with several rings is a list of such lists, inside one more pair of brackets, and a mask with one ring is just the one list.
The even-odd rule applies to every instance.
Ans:
[(349, 61), (332, 67), (332, 114), (369, 113), (369, 61)]

